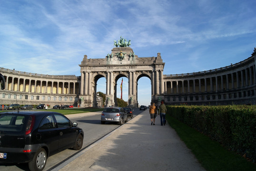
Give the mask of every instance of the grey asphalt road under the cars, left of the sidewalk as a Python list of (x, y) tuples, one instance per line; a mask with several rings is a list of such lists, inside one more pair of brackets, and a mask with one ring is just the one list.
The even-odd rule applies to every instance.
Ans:
[[(138, 109), (134, 111), (134, 117), (141, 113)], [(88, 116), (89, 115), (89, 116)], [(77, 122), (78, 126), (83, 129), (84, 141), (83, 147), (88, 146), (89, 144), (95, 142), (102, 136), (116, 129), (119, 125), (115, 123), (105, 123), (100, 124), (100, 114), (85, 114), (85, 116), (72, 117), (71, 115), (67, 115), (72, 122)], [(128, 118), (130, 120), (130, 118)], [(49, 170), (55, 165), (58, 165), (62, 161), (69, 158), (69, 156), (73, 155), (78, 151), (67, 149), (57, 154), (50, 156), (47, 160), (44, 171)], [(29, 171), (27, 163), (2, 163), (0, 162), (0, 171)]]

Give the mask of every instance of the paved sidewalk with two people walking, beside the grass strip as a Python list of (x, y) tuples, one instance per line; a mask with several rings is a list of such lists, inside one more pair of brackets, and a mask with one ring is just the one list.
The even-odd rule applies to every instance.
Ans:
[(148, 110), (53, 171), (205, 171), (167, 124)]

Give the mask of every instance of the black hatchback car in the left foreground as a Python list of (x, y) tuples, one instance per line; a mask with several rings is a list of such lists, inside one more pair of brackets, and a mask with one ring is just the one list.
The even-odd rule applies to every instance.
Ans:
[(42, 171), (47, 158), (62, 150), (80, 150), (84, 132), (57, 112), (0, 113), (0, 161), (29, 163)]

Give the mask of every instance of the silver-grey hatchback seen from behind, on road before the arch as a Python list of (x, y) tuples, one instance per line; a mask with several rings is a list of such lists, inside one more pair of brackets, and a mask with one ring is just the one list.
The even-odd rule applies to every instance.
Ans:
[(122, 125), (123, 122), (127, 122), (127, 113), (122, 107), (106, 107), (101, 113), (101, 124), (105, 122), (116, 122)]

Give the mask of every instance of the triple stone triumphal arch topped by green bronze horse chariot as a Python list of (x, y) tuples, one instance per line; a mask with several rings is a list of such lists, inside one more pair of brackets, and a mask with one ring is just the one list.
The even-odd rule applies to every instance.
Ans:
[(128, 105), (138, 106), (138, 80), (146, 76), (151, 80), (151, 101), (164, 98), (163, 69), (165, 63), (158, 53), (157, 57), (138, 57), (130, 46), (130, 40), (120, 37), (114, 41), (111, 54), (105, 58), (91, 59), (84, 56), (81, 65), (80, 105), (98, 106), (97, 81), (106, 78), (106, 106), (117, 106), (117, 81), (128, 78)]

